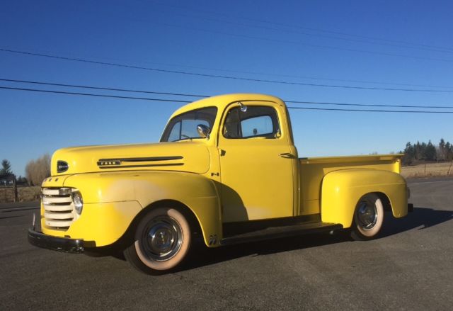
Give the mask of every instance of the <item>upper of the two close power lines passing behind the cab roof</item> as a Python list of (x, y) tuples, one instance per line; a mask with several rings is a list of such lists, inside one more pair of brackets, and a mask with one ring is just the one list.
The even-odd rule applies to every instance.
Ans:
[[(124, 91), (124, 92), (134, 92), (134, 93), (144, 93), (144, 94), (159, 94), (159, 95), (172, 95), (172, 96), (188, 96), (188, 97), (197, 97), (197, 98), (206, 98), (210, 95), (195, 95), (195, 94), (181, 94), (181, 93), (168, 93), (168, 92), (159, 92), (159, 91), (144, 91), (137, 89), (118, 89), (106, 86), (87, 86), (80, 84), (61, 84), (61, 83), (52, 83), (52, 82), (43, 82), (43, 81), (30, 81), (30, 80), (19, 80), (19, 79), (4, 79), (0, 78), (0, 81), (14, 82), (14, 83), (24, 83), (24, 84), (38, 84), (38, 85), (49, 85), (49, 86), (64, 86), (72, 88), (81, 88), (81, 89), (96, 89), (104, 91)], [(401, 104), (377, 104), (377, 103), (331, 103), (326, 101), (285, 101), (286, 103), (305, 103), (305, 104), (314, 104), (314, 105), (333, 105), (333, 106), (367, 106), (367, 107), (391, 107), (391, 108), (447, 108), (453, 109), (453, 106), (425, 106), (425, 105), (401, 105)]]

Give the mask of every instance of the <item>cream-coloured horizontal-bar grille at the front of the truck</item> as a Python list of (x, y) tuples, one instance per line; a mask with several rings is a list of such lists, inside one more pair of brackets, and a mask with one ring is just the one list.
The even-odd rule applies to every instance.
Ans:
[(60, 191), (60, 188), (42, 188), (45, 225), (51, 229), (67, 230), (76, 220), (77, 213), (72, 203), (72, 192)]

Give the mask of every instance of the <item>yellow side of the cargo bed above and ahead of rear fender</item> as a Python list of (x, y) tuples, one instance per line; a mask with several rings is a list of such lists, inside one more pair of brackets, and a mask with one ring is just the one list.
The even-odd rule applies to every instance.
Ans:
[(321, 183), (331, 171), (377, 169), (401, 172), (403, 154), (373, 154), (350, 157), (299, 158), (299, 215), (320, 213)]

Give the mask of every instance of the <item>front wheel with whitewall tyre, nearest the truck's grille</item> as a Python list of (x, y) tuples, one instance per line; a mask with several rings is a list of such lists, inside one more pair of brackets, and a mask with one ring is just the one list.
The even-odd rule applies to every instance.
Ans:
[(188, 220), (174, 208), (150, 210), (140, 220), (127, 261), (139, 271), (159, 274), (180, 266), (188, 255), (192, 234)]

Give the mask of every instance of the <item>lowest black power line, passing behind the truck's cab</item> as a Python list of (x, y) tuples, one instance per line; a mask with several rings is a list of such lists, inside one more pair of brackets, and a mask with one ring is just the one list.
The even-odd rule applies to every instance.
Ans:
[[(0, 89), (14, 90), (14, 91), (33, 91), (33, 92), (42, 92), (50, 94), (65, 94), (73, 96), (96, 96), (96, 97), (105, 97), (105, 98), (120, 98), (120, 99), (133, 99), (141, 101), (164, 101), (172, 103), (191, 103), (191, 101), (181, 101), (173, 99), (163, 99), (163, 98), (147, 98), (147, 97), (134, 97), (134, 96), (116, 96), (116, 95), (105, 95), (105, 94), (91, 94), (91, 93), (79, 93), (79, 92), (68, 92), (68, 91), (52, 91), (52, 90), (43, 90), (43, 89), (25, 89), (25, 88), (16, 88), (9, 86), (0, 86)], [(317, 111), (357, 111), (357, 112), (372, 112), (372, 113), (453, 113), (453, 111), (391, 111), (391, 110), (366, 110), (366, 109), (340, 109), (340, 108), (310, 108), (310, 107), (288, 107), (289, 109), (304, 109), (304, 110), (317, 110)]]

